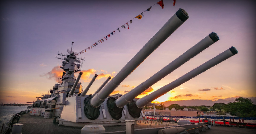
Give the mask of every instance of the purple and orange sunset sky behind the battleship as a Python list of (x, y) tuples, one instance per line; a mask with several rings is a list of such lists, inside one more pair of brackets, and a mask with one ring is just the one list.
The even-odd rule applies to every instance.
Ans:
[(142, 62), (112, 94), (125, 94), (161, 70), (212, 31), (220, 40), (152, 85), (141, 98), (171, 83), (219, 53), (234, 46), (238, 54), (183, 83), (155, 102), (218, 100), (256, 97), (255, 3), (228, 0), (142, 1), (2, 1), (0, 103), (36, 100), (61, 77), (58, 52), (80, 52), (134, 18), (129, 29), (120, 28), (107, 40), (79, 54), (84, 57), (81, 82), (93, 94), (108, 76), (115, 75), (179, 9), (189, 19)]

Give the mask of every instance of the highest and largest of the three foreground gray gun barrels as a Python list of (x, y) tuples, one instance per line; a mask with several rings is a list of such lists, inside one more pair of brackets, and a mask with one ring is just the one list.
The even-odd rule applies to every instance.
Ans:
[(179, 26), (187, 19), (185, 10), (179, 9), (164, 26), (141, 48), (141, 50), (117, 73), (117, 75), (99, 91), (90, 101), (97, 108), (104, 102), (106, 97), (113, 92), (117, 86), (136, 69), (158, 46), (164, 42)]

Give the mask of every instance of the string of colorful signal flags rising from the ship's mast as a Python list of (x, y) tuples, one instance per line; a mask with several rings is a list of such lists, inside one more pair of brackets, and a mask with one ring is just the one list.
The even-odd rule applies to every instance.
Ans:
[[(175, 3), (176, 3), (176, 0), (173, 0), (173, 6), (175, 6)], [(159, 4), (159, 5), (162, 7), (162, 9), (163, 9), (163, 6), (164, 6), (163, 0), (158, 1), (156, 4)], [(155, 5), (155, 4), (154, 4), (154, 5)], [(151, 7), (153, 7), (154, 5), (152, 5)], [(147, 10), (145, 10), (145, 11), (150, 11), (151, 7), (149, 7), (149, 8), (148, 8)], [(141, 14), (139, 14), (138, 16), (136, 16), (136, 17), (134, 17), (134, 18), (138, 18), (139, 20), (141, 20), (141, 18), (144, 17), (143, 13), (144, 13), (145, 11), (141, 12)], [(128, 22), (130, 22), (130, 24), (131, 24), (131, 23), (132, 23), (132, 20), (133, 20), (134, 18), (132, 18), (132, 19), (131, 19), (130, 21), (128, 21)], [(129, 27), (128, 22), (125, 23), (125, 24), (123, 24), (122, 26), (118, 27), (116, 30), (118, 30), (118, 31), (120, 32), (120, 28), (126, 29), (126, 25), (127, 25), (127, 27), (128, 27), (127, 29), (129, 29), (130, 27)], [(110, 34), (111, 34), (111, 35), (116, 34), (116, 33), (115, 33), (116, 30), (112, 31)], [(76, 55), (85, 53), (87, 50), (90, 50), (90, 49), (92, 49), (93, 47), (96, 47), (96, 45), (98, 45), (98, 44), (100, 44), (100, 43), (103, 43), (103, 42), (104, 42), (103, 39), (105, 39), (105, 41), (106, 41), (106, 40), (108, 39), (108, 37), (110, 37), (110, 34), (108, 34), (107, 36), (103, 37), (101, 40), (98, 40), (98, 41), (95, 42), (93, 45), (91, 45), (91, 46), (89, 46), (88, 48), (82, 50), (81, 52), (77, 53)]]

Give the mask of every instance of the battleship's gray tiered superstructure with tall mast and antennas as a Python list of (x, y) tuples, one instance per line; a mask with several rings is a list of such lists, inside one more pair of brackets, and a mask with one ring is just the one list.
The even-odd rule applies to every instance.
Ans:
[(37, 97), (42, 100), (37, 99), (34, 101), (31, 115), (42, 116), (45, 111), (53, 111), (52, 116), (59, 116), (64, 105), (63, 102), (65, 102), (68, 94), (71, 91), (73, 94), (82, 93), (82, 83), (79, 82), (82, 72), (79, 73), (79, 78), (74, 73), (81, 71), (81, 64), (84, 58), (76, 57), (76, 53), (72, 52), (72, 47), (71, 50), (67, 50), (69, 54), (58, 53), (59, 56), (62, 56), (56, 57), (62, 60), (62, 65), (60, 66), (63, 69), (61, 81), (50, 89), (50, 94), (42, 94), (42, 97)]

